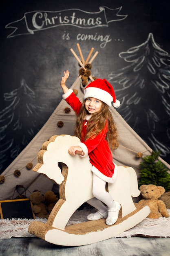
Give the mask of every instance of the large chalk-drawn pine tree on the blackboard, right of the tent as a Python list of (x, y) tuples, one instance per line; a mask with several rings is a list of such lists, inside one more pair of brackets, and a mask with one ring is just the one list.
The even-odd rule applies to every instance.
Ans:
[[(161, 157), (170, 154), (170, 55), (155, 43), (146, 42), (119, 54), (130, 65), (109, 74), (121, 101), (118, 109), (126, 122)], [(169, 162), (169, 160), (167, 161)]]

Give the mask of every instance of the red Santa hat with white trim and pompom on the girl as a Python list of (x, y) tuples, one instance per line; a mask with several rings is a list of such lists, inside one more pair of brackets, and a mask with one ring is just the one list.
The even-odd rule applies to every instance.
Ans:
[(120, 106), (120, 101), (116, 99), (113, 86), (106, 79), (96, 79), (86, 86), (84, 99), (91, 97), (103, 101), (109, 107), (113, 105), (113, 107), (119, 108)]

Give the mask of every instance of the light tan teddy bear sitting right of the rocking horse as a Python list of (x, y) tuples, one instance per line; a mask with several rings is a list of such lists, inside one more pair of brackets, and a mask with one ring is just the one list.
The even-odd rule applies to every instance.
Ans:
[(138, 203), (150, 207), (148, 218), (159, 219), (162, 216), (169, 217), (165, 203), (158, 199), (165, 192), (162, 186), (155, 186), (153, 184), (141, 185), (139, 189), (144, 199), (141, 199)]

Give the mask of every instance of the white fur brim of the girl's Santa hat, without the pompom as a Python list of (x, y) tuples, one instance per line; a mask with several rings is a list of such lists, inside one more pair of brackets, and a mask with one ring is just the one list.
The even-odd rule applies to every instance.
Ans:
[(106, 92), (105, 90), (96, 88), (96, 87), (88, 87), (84, 90), (84, 99), (87, 98), (95, 98), (99, 99), (106, 103), (109, 107), (112, 105), (111, 102), (113, 101), (113, 97), (110, 93)]

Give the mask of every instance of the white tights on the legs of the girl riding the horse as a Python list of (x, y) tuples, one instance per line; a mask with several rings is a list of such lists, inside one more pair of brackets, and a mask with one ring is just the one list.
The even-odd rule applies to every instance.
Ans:
[[(113, 209), (115, 202), (110, 193), (106, 191), (106, 182), (93, 173), (93, 195), (94, 198), (87, 201), (88, 204), (95, 207), (101, 213), (107, 209)], [(102, 201), (102, 202), (101, 202)], [(104, 205), (106, 204), (108, 208)]]

